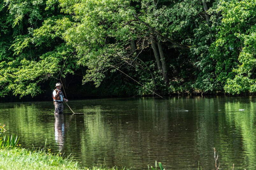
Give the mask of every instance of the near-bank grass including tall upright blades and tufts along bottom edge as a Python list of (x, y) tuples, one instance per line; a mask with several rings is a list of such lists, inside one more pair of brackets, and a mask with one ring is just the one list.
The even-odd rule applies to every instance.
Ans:
[[(19, 138), (16, 136), (11, 137), (9, 135), (1, 135), (0, 137), (0, 169), (80, 169), (77, 166), (77, 162), (72, 161), (68, 157), (63, 157), (62, 153), (51, 153), (51, 149), (43, 148), (32, 148), (28, 150), (20, 148), (18, 144)], [(45, 143), (46, 146), (46, 143)], [(159, 162), (160, 170), (164, 170), (162, 164)], [(82, 168), (86, 170), (118, 170), (117, 167), (105, 167), (97, 165), (95, 167)], [(155, 162), (155, 168), (151, 167), (152, 170), (157, 170), (157, 162)], [(126, 167), (120, 170), (129, 170)], [(150, 170), (148, 166), (148, 170)]]

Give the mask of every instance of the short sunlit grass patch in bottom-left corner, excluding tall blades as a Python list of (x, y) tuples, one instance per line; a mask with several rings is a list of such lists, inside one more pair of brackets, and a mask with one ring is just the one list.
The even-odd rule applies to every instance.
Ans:
[(0, 169), (78, 169), (77, 163), (58, 153), (22, 148), (0, 149)]

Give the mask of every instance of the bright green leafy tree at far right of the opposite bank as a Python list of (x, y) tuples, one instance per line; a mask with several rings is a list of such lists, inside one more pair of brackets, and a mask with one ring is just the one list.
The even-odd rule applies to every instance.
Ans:
[(222, 11), (223, 19), (216, 45), (225, 49), (225, 54), (230, 56), (228, 64), (224, 63), (225, 67), (232, 70), (221, 71), (220, 78), (224, 79), (225, 92), (256, 92), (256, 2), (223, 0), (219, 9)]

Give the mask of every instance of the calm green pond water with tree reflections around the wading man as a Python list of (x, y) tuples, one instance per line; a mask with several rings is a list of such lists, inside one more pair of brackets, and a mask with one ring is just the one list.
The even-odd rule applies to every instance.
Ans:
[[(53, 102), (1, 103), (0, 123), (20, 144), (71, 153), (81, 167), (256, 169), (256, 98), (183, 97), (69, 101), (54, 116)], [(47, 139), (47, 141), (46, 141)]]

